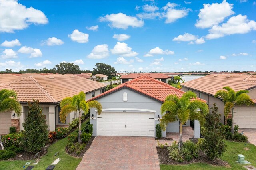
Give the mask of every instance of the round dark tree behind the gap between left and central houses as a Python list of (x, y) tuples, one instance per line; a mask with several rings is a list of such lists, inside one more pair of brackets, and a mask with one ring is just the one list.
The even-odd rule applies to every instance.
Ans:
[(108, 79), (112, 79), (112, 77), (116, 76), (115, 68), (111, 65), (104, 63), (96, 63), (96, 68), (93, 69), (92, 74), (104, 74), (108, 76)]

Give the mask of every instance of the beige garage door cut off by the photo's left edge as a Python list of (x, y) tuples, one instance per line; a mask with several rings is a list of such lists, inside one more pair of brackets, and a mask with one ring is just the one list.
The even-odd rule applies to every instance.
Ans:
[(1, 112), (0, 113), (0, 134), (8, 134), (9, 127), (12, 126), (11, 123), (11, 113)]

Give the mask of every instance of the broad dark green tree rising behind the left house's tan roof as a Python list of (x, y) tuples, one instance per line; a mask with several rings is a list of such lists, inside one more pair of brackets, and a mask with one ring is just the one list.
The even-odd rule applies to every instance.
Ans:
[(59, 63), (55, 65), (56, 71), (59, 74), (80, 74), (80, 67), (78, 65), (75, 65), (73, 63)]

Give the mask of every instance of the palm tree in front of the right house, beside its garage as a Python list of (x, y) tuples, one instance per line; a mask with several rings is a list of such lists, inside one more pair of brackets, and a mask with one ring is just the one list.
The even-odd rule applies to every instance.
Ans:
[(234, 116), (234, 107), (235, 105), (254, 105), (254, 102), (250, 98), (249, 95), (246, 93), (249, 93), (247, 90), (239, 90), (235, 92), (232, 88), (226, 86), (222, 89), (226, 90), (218, 90), (215, 94), (215, 97), (221, 97), (224, 102), (224, 115), (225, 117), (228, 117), (232, 110), (232, 118), (231, 118), (231, 132), (234, 134), (234, 122), (233, 122), (233, 116)]

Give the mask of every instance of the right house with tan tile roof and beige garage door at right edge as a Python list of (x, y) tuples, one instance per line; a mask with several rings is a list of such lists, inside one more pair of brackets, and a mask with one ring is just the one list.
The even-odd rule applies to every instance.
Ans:
[[(198, 97), (206, 100), (209, 108), (216, 103), (221, 113), (221, 123), (225, 122), (224, 103), (222, 99), (215, 98), (214, 95), (222, 87), (229, 86), (234, 91), (248, 90), (248, 95), (256, 103), (256, 75), (211, 74), (182, 83), (181, 86), (182, 91), (194, 91)], [(238, 125), (240, 128), (256, 128), (256, 106), (236, 106), (234, 108), (234, 125)]]

